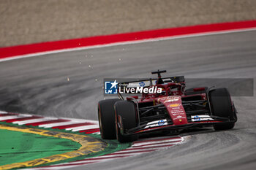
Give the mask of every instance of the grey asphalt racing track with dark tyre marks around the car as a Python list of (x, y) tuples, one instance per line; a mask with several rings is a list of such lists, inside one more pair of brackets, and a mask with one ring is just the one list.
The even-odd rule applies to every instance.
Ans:
[[(5, 61), (0, 109), (97, 120), (103, 78), (150, 77), (151, 71), (167, 69), (170, 76), (255, 79), (255, 55), (256, 31), (244, 31)], [(233, 101), (233, 130), (190, 131), (181, 134), (187, 142), (166, 150), (72, 169), (254, 169), (256, 98)]]

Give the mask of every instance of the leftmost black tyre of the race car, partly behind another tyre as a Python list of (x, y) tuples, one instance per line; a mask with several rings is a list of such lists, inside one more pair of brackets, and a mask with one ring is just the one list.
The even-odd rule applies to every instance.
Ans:
[(98, 103), (99, 131), (102, 139), (116, 139), (114, 104), (120, 100), (111, 98)]

